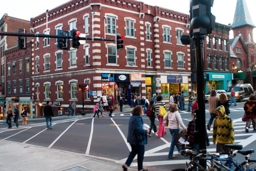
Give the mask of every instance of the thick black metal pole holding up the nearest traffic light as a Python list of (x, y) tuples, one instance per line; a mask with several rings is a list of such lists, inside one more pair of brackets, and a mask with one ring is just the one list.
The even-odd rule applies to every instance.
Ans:
[[(199, 146), (198, 150), (206, 150), (206, 127), (205, 127), (205, 101), (204, 101), (204, 36), (193, 36), (196, 50), (196, 82), (197, 82), (197, 129), (199, 132)], [(199, 160), (201, 166), (206, 166), (205, 160)]]

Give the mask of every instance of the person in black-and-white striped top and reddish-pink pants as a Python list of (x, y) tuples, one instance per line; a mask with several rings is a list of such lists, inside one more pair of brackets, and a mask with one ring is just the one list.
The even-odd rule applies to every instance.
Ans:
[(161, 107), (161, 105), (163, 105), (163, 107), (165, 108), (166, 110), (166, 107), (165, 107), (165, 103), (162, 101), (163, 100), (163, 97), (161, 95), (158, 95), (156, 97), (156, 117), (157, 119), (159, 120), (159, 128), (158, 128), (158, 138), (161, 138), (163, 135), (166, 134), (165, 132), (165, 128), (164, 128), (164, 119), (162, 116), (159, 116), (159, 108)]

